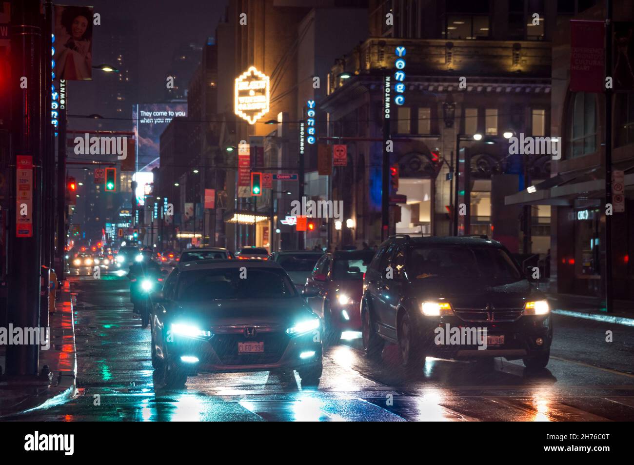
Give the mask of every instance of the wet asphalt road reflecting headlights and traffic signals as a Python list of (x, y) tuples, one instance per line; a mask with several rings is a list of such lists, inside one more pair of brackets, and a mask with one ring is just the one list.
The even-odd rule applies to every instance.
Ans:
[[(87, 274), (87, 273), (86, 273)], [(150, 331), (133, 317), (129, 284), (116, 273), (71, 278), (79, 393), (16, 417), (28, 421), (633, 421), (634, 328), (555, 315), (547, 369), (521, 361), (427, 359), (418, 376), (398, 368), (394, 346), (370, 362), (361, 341), (325, 352), (317, 388), (296, 375), (190, 377), (186, 388), (155, 388)], [(605, 342), (612, 331), (614, 341)], [(96, 405), (100, 404), (100, 405)]]

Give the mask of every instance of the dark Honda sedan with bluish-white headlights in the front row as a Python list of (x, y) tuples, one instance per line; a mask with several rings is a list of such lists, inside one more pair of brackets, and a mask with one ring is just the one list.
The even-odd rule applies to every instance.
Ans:
[(152, 300), (152, 366), (168, 388), (214, 372), (297, 370), (302, 384), (319, 382), (320, 318), (276, 263), (181, 263)]

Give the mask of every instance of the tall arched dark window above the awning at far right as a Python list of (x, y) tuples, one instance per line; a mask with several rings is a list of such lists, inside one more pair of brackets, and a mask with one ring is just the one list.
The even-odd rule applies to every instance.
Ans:
[(592, 93), (573, 95), (569, 107), (569, 157), (592, 154), (597, 150), (597, 102)]

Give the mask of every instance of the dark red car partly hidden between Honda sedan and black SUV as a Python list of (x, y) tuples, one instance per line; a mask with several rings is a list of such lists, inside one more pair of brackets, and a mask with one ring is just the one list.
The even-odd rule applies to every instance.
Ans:
[(327, 253), (306, 279), (306, 287), (316, 289), (308, 303), (323, 320), (325, 344), (339, 343), (344, 331), (361, 331), (363, 275), (373, 256), (372, 250)]

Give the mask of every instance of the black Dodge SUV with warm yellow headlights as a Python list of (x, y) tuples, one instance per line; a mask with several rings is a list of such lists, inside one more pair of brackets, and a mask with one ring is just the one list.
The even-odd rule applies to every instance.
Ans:
[(545, 296), (486, 236), (390, 237), (365, 273), (361, 325), (368, 357), (390, 341), (413, 369), (426, 356), (543, 368), (553, 334)]

